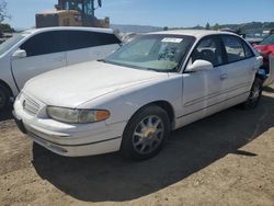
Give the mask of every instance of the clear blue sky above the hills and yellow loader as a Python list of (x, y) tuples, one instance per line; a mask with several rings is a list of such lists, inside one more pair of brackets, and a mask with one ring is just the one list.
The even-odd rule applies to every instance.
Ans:
[[(1, 1), (1, 0), (0, 0)], [(5, 0), (15, 28), (35, 25), (35, 13), (53, 9), (58, 0)], [(102, 0), (98, 18), (114, 24), (195, 26), (215, 23), (274, 22), (274, 0)]]

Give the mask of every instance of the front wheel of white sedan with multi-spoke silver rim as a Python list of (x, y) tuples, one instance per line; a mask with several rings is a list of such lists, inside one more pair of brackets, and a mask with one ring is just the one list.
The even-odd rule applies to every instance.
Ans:
[(123, 134), (122, 153), (130, 160), (146, 160), (156, 156), (170, 134), (167, 112), (149, 105), (137, 112), (128, 122)]

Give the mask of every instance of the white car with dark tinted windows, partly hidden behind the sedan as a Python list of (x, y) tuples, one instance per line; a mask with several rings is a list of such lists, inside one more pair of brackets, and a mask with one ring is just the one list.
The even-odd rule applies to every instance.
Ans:
[(46, 27), (15, 34), (0, 44), (0, 110), (32, 77), (105, 58), (119, 44), (113, 31), (106, 28)]

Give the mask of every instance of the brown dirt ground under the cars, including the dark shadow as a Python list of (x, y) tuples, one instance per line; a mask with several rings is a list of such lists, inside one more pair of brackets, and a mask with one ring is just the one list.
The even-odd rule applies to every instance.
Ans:
[(64, 158), (0, 114), (0, 205), (274, 205), (274, 89), (174, 131), (156, 158)]

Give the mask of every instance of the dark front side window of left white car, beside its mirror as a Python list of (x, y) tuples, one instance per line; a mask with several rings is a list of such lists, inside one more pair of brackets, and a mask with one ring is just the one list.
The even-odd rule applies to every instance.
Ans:
[(22, 44), (20, 48), (26, 52), (27, 57), (65, 50), (61, 43), (61, 33), (58, 31), (36, 34)]

